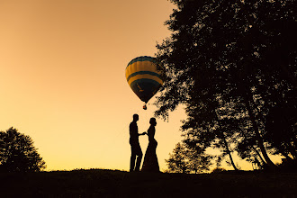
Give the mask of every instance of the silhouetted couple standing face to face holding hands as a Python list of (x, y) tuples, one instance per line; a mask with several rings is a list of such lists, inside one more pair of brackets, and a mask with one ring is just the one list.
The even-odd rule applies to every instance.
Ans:
[[(151, 118), (149, 120), (150, 126), (148, 128), (148, 132), (139, 133), (139, 129), (137, 126), (137, 121), (139, 121), (139, 115), (133, 115), (133, 121), (130, 122), (130, 146), (131, 146), (131, 157), (130, 157), (130, 172), (139, 171), (141, 159), (142, 159), (142, 151), (139, 145), (139, 136), (140, 135), (148, 135), (148, 148), (146, 151), (146, 155), (143, 160), (143, 165), (141, 171), (145, 172), (159, 172), (159, 167), (157, 163), (157, 141), (155, 137), (155, 126), (157, 125), (157, 121), (155, 118)], [(135, 159), (136, 165), (135, 165)]]

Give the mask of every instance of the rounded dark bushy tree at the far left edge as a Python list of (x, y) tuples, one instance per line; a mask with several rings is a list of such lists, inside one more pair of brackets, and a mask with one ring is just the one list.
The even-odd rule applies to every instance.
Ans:
[(28, 135), (13, 127), (0, 131), (0, 170), (4, 172), (36, 172), (44, 169), (45, 162)]

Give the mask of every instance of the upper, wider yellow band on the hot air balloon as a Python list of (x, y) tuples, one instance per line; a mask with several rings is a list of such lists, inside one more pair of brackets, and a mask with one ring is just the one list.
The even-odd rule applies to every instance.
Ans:
[(157, 71), (156, 65), (153, 64), (151, 61), (137, 61), (126, 68), (126, 78), (128, 78), (128, 76), (130, 76), (131, 74), (139, 71), (151, 71), (156, 72), (157, 74), (161, 74), (159, 71)]

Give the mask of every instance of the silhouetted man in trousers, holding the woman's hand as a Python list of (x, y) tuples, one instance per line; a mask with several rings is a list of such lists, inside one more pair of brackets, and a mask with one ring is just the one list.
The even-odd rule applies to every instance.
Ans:
[[(146, 132), (139, 133), (139, 128), (137, 126), (136, 121), (139, 120), (139, 115), (134, 114), (133, 115), (133, 121), (130, 122), (129, 130), (130, 130), (130, 146), (131, 146), (131, 157), (130, 157), (130, 172), (132, 171), (139, 171), (139, 166), (142, 159), (142, 151), (139, 145), (139, 136), (145, 135)], [(136, 160), (136, 166), (135, 166), (135, 159)], [(135, 169), (134, 169), (135, 166)]]

